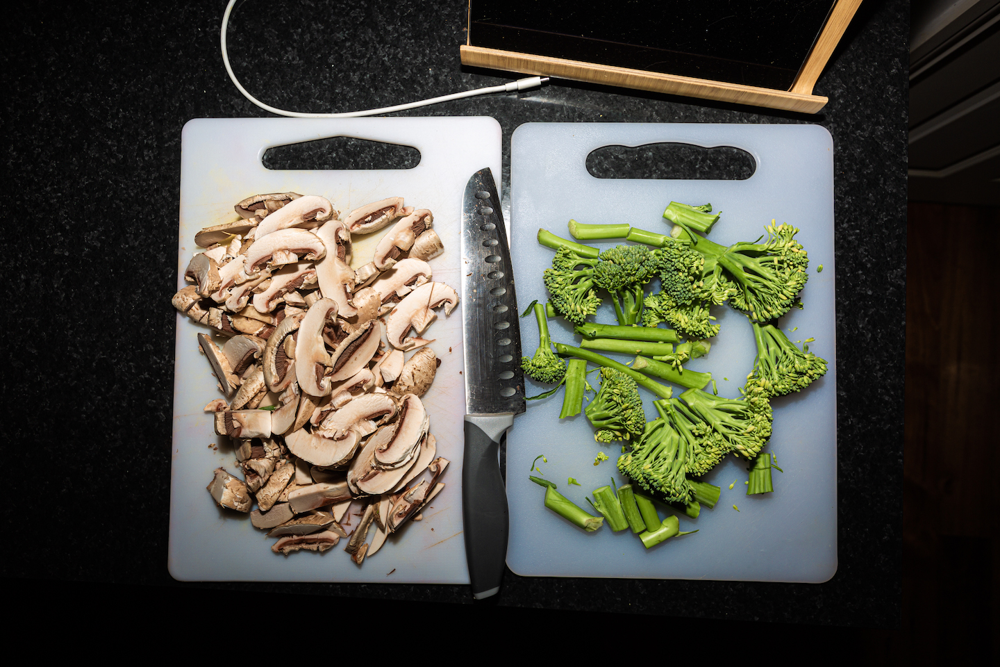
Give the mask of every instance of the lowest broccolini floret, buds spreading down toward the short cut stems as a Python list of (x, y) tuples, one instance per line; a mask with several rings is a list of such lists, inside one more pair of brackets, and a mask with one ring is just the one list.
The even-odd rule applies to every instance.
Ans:
[(618, 469), (647, 491), (662, 494), (668, 502), (686, 503), (694, 497), (685, 473), (688, 441), (673, 429), (666, 401), (654, 403), (660, 416), (646, 424), (632, 451), (618, 459)]

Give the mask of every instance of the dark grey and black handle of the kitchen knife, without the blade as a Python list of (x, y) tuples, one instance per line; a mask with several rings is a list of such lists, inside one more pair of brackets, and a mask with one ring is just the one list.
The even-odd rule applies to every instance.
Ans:
[(507, 490), (497, 458), (499, 441), (505, 437), (506, 430), (493, 441), (476, 424), (465, 420), (462, 521), (472, 596), (477, 600), (500, 590), (507, 560)]

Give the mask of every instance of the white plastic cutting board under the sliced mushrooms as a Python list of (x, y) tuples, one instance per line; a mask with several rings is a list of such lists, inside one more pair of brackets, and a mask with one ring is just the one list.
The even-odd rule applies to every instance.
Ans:
[[(406, 170), (294, 171), (269, 170), (261, 163), (270, 147), (336, 136), (412, 146), (420, 151), (420, 163)], [(183, 272), (196, 249), (195, 232), (236, 220), (233, 205), (247, 196), (294, 191), (323, 195), (342, 212), (389, 196), (430, 209), (445, 246), (445, 253), (431, 260), (434, 279), (458, 289), (462, 194), (469, 177), (483, 167), (490, 167), (500, 181), (500, 139), (499, 124), (486, 117), (192, 120), (184, 126), (181, 144), (177, 288), (184, 286)], [(354, 266), (370, 261), (374, 242), (386, 231), (355, 238)], [(196, 334), (208, 330), (178, 315), (171, 575), (189, 581), (468, 583), (461, 506), (461, 322), (459, 305), (447, 318), (441, 313), (427, 336), (436, 339), (430, 347), (442, 363), (423, 400), (438, 455), (452, 462), (442, 477), (446, 487), (422, 521), (411, 522), (359, 567), (340, 546), (325, 554), (274, 554), (273, 538), (253, 528), (248, 515), (222, 509), (212, 500), (205, 489), (212, 471), (219, 466), (233, 474), (238, 470), (231, 447), (214, 434), (210, 416), (202, 412), (206, 403), (221, 397), (198, 352)], [(215, 444), (218, 450), (210, 446)]]

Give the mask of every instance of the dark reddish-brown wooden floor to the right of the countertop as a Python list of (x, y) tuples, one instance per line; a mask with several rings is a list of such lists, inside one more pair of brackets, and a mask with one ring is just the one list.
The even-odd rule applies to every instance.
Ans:
[(881, 642), (998, 664), (1000, 209), (911, 202), (908, 219), (903, 625)]

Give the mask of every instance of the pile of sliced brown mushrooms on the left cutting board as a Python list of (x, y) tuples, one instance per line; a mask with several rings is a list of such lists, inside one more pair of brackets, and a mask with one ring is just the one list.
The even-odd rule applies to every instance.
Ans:
[[(434, 217), (402, 197), (341, 216), (292, 192), (234, 208), (239, 220), (195, 235), (204, 250), (173, 298), (214, 332), (198, 344), (224, 398), (205, 410), (243, 477), (218, 468), (208, 491), (250, 513), (275, 553), (345, 538), (360, 565), (444, 488), (448, 460), (420, 400), (440, 361), (421, 335), (458, 295), (432, 280), (427, 262), (443, 251)], [(371, 262), (351, 269), (352, 235), (389, 225)]]

